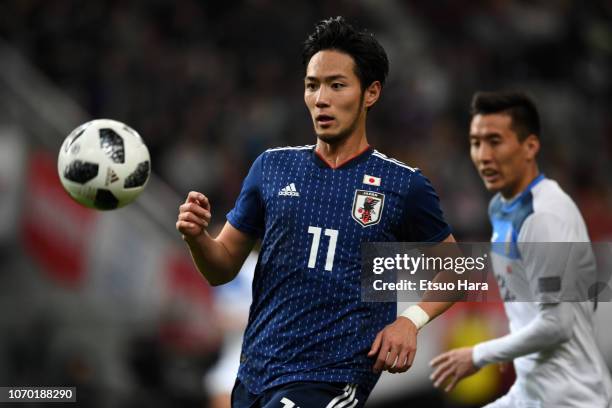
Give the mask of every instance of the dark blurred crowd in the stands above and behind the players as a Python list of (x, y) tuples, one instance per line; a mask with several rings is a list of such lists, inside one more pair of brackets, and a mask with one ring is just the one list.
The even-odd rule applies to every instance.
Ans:
[(423, 169), (456, 236), (489, 234), (468, 109), (474, 91), (501, 88), (535, 97), (542, 170), (575, 196), (595, 238), (612, 236), (609, 1), (7, 0), (0, 36), (92, 117), (139, 130), (154, 171), (181, 195), (211, 196), (222, 223), (261, 151), (314, 143), (301, 43), (332, 15), (387, 48), (368, 137)]

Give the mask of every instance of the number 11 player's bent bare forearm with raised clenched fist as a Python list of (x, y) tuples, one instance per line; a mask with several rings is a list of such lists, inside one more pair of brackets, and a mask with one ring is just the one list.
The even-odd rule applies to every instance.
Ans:
[(191, 191), (179, 207), (176, 229), (187, 243), (198, 271), (211, 285), (217, 286), (236, 277), (256, 239), (229, 222), (213, 238), (208, 233), (211, 216), (208, 198)]

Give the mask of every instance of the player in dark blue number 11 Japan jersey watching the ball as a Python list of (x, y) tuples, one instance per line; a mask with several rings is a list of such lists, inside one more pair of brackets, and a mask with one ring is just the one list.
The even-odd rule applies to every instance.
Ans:
[(316, 144), (262, 153), (217, 237), (199, 192), (176, 223), (212, 285), (231, 281), (262, 241), (234, 407), (362, 407), (382, 370), (410, 367), (418, 329), (451, 305), (397, 317), (395, 304), (361, 301), (363, 242), (454, 242), (429, 181), (368, 144), (383, 47), (331, 18), (305, 41), (303, 62)]

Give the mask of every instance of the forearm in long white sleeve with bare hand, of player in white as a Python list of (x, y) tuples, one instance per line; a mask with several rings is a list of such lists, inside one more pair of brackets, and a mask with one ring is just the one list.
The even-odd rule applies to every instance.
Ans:
[(541, 303), (536, 317), (525, 327), (506, 336), (442, 353), (430, 365), (435, 387), (449, 381), (445, 391), (491, 363), (503, 363), (558, 346), (572, 337), (574, 309), (569, 303)]

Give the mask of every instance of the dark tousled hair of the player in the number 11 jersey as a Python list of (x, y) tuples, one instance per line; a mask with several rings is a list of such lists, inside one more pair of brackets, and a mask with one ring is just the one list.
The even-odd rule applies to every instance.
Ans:
[(344, 17), (331, 17), (317, 23), (314, 32), (304, 41), (304, 69), (308, 67), (312, 56), (323, 50), (337, 50), (353, 58), (355, 74), (362, 90), (374, 81), (385, 84), (389, 73), (389, 59), (385, 49), (372, 33), (355, 29)]

